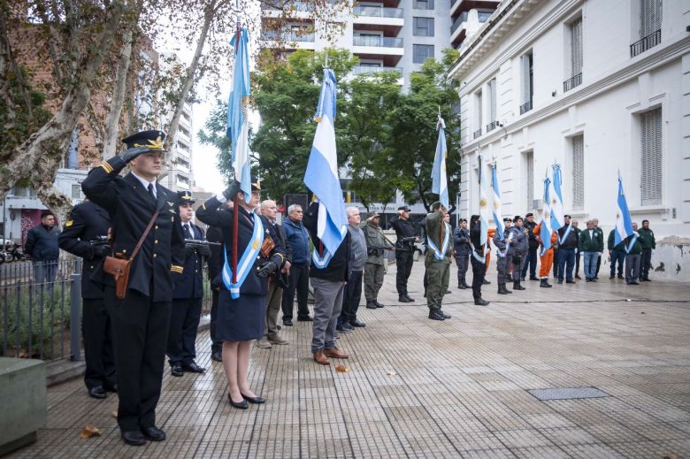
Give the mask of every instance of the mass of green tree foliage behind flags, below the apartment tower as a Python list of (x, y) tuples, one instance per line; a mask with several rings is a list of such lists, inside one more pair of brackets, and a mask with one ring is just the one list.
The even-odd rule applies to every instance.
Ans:
[[(412, 74), (407, 94), (398, 85), (397, 73), (345, 79), (357, 65), (357, 57), (348, 50), (327, 53), (328, 64), (339, 79), (338, 164), (347, 165), (350, 173), (350, 177), (341, 177), (343, 189), (354, 191), (365, 207), (390, 203), (400, 190), (409, 203), (421, 199), (428, 209), (436, 199), (429, 190), (439, 108), (446, 120), (449, 152), (459, 146), (459, 118), (451, 115), (459, 98), (445, 75), (456, 50), (449, 50), (441, 62), (427, 60), (419, 73)], [(308, 191), (303, 176), (316, 131), (313, 117), (325, 58), (325, 52), (297, 50), (287, 60), (276, 60), (265, 51), (258, 58), (257, 72), (251, 75), (252, 103), (261, 115), (261, 126), (250, 135), (253, 165), (273, 199)], [(226, 103), (219, 101), (199, 139), (219, 149), (219, 169), (229, 179), (233, 171), (225, 135), (226, 110)], [(447, 169), (452, 196), (459, 184), (459, 155), (448, 155)]]

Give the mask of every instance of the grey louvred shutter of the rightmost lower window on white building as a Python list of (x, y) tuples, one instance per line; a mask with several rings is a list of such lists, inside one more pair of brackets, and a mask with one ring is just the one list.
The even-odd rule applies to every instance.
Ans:
[(662, 109), (642, 113), (641, 180), (642, 205), (662, 203)]

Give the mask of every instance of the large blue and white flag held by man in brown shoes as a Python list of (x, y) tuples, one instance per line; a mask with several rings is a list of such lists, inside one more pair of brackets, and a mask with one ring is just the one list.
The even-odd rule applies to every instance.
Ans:
[(340, 247), (344, 238), (341, 229), (347, 223), (335, 151), (336, 94), (335, 74), (326, 68), (315, 117), (318, 126), (311, 145), (307, 171), (304, 172), (304, 185), (318, 197), (318, 238), (331, 254)]

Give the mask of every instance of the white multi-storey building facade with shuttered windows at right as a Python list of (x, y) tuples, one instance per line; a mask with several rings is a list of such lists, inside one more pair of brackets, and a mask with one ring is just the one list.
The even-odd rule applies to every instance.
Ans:
[(655, 232), (655, 277), (689, 280), (688, 25), (679, 0), (502, 2), (449, 73), (461, 84), (461, 214), (479, 211), (479, 152), (497, 164), (510, 216), (539, 218), (556, 162), (566, 213), (608, 235), (620, 172), (633, 221)]

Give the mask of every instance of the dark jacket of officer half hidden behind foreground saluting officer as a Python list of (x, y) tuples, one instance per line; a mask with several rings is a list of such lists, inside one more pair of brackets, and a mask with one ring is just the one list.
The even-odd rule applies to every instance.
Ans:
[(74, 206), (58, 238), (60, 249), (84, 259), (81, 264), (81, 297), (87, 300), (103, 298), (103, 286), (91, 280), (96, 268), (103, 264), (103, 257), (93, 256), (89, 241), (107, 236), (111, 227), (108, 210), (96, 203), (84, 201)]

